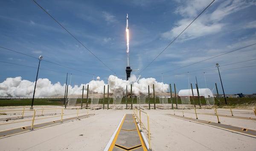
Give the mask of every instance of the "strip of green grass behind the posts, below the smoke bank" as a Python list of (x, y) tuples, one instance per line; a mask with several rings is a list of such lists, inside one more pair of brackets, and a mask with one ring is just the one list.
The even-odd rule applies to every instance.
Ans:
[[(107, 104), (107, 98), (105, 98), (104, 102)], [(122, 99), (122, 104), (125, 104), (125, 98)], [(173, 104), (176, 105), (175, 98), (172, 99)], [(228, 106), (254, 106), (256, 105), (256, 98), (226, 98)], [(146, 100), (147, 101), (147, 100)], [(83, 99), (83, 106), (86, 105), (87, 99)], [(88, 100), (88, 104), (90, 105), (91, 99)], [(148, 101), (147, 101), (148, 102)], [(220, 99), (221, 105), (226, 105), (224, 98)], [(63, 101), (59, 101), (58, 99), (34, 99), (33, 105), (57, 105), (62, 106)], [(127, 100), (128, 104), (131, 104), (131, 98)], [(133, 104), (136, 104), (136, 98), (133, 99)], [(171, 99), (168, 99), (168, 103), (171, 103)], [(192, 103), (192, 99), (191, 99)], [(0, 106), (28, 106), (32, 104), (32, 99), (0, 99)], [(81, 98), (77, 99), (76, 104), (81, 104)], [(99, 104), (103, 104), (103, 99), (99, 99)], [(113, 99), (110, 99), (110, 104), (113, 104)], [(150, 104), (154, 104), (154, 98), (150, 98)], [(156, 104), (159, 104), (159, 99), (156, 98)], [(180, 98), (178, 98), (177, 104), (181, 104)], [(193, 103), (192, 103), (193, 104)], [(201, 99), (201, 104), (206, 105), (204, 99)], [(198, 98), (195, 98), (195, 105), (199, 105)], [(215, 99), (215, 105), (218, 105), (218, 101)]]

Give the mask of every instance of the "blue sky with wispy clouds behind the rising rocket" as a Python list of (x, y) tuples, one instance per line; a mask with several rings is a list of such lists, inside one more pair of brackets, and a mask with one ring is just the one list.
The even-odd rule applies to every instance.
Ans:
[(39, 55), (38, 78), (52, 84), (64, 84), (67, 73), (73, 86), (97, 76), (105, 83), (110, 75), (125, 79), (128, 13), (129, 65), (140, 69), (132, 74), (175, 83), (177, 90), (195, 87), (197, 77), (199, 87), (213, 90), (217, 83), (222, 93), (218, 63), (226, 94), (256, 93), (256, 0), (215, 0), (172, 44), (212, 0), (36, 2), (90, 52), (32, 0), (3, 0), (0, 83), (17, 76), (35, 81)]

